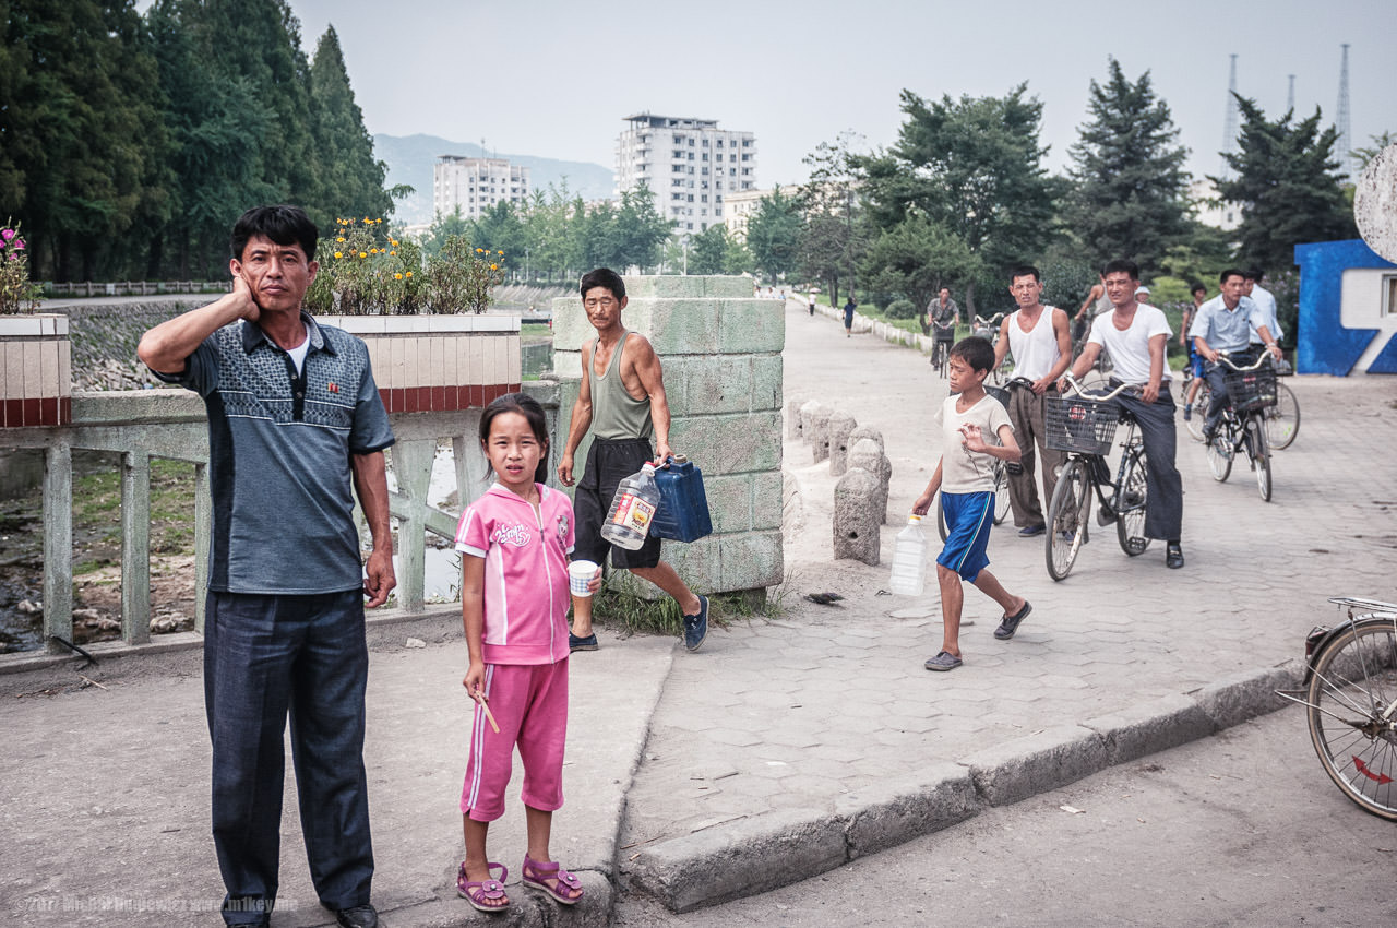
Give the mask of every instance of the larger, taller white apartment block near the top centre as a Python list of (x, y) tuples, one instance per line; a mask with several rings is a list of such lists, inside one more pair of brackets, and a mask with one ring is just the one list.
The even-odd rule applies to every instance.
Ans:
[(652, 113), (627, 116), (626, 123), (616, 140), (616, 196), (644, 183), (680, 235), (724, 222), (725, 198), (757, 186), (752, 133), (718, 129), (715, 119)]

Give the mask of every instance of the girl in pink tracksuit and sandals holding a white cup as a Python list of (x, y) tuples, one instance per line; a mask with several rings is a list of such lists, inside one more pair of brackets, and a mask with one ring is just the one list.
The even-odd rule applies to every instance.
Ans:
[[(503, 886), (509, 869), (489, 861), (485, 839), (489, 823), (504, 813), (517, 745), (528, 825), (522, 882), (573, 904), (583, 897), (581, 882), (548, 853), (553, 809), (563, 805), (573, 505), (543, 486), (548, 426), (538, 401), (513, 393), (490, 403), (481, 416), (481, 444), (497, 482), (465, 510), (455, 534), (471, 654), (461, 682), (476, 700), (461, 790), (465, 861), (457, 892), (481, 911), (510, 904)], [(599, 586), (594, 577), (592, 590)]]

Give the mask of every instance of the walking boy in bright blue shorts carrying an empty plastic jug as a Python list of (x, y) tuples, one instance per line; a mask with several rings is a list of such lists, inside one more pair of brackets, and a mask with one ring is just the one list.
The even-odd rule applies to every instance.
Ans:
[(985, 393), (985, 377), (995, 363), (995, 348), (971, 335), (956, 342), (950, 358), (950, 389), (936, 421), (946, 436), (946, 451), (912, 513), (925, 516), (936, 492), (942, 493), (946, 516), (946, 546), (936, 558), (936, 581), (942, 594), (942, 648), (925, 664), (929, 671), (951, 671), (961, 665), (960, 623), (965, 593), (971, 583), (1004, 609), (995, 637), (1007, 641), (1032, 612), (1028, 600), (1009, 593), (986, 567), (989, 530), (995, 524), (995, 458), (1017, 461), (1018, 444), (1009, 412)]

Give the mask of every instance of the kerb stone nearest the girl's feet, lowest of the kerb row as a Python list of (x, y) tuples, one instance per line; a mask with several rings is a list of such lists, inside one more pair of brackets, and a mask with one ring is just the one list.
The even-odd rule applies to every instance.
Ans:
[(644, 847), (630, 878), (683, 913), (796, 883), (845, 860), (844, 822), (789, 809)]

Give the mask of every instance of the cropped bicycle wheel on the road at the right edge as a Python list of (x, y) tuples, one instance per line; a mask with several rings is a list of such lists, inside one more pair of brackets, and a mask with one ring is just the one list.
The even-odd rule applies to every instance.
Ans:
[(1324, 773), (1358, 808), (1397, 822), (1397, 625), (1368, 618), (1315, 654), (1309, 681), (1310, 742)]

